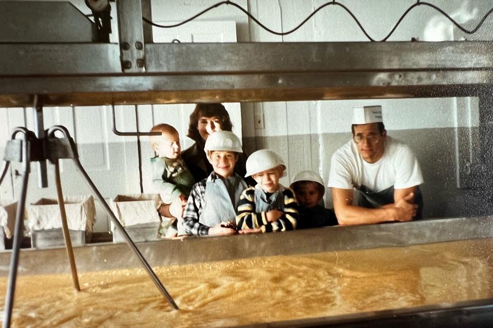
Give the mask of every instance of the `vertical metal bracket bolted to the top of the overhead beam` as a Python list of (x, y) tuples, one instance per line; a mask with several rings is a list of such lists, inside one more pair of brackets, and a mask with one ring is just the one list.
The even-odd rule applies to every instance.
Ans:
[(145, 72), (141, 0), (120, 0), (117, 12), (122, 71)]

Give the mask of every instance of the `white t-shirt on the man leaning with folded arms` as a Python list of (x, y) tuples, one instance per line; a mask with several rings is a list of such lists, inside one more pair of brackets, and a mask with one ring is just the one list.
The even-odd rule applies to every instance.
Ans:
[(361, 158), (353, 140), (332, 155), (329, 187), (359, 189), (363, 185), (378, 192), (391, 186), (404, 189), (422, 183), (421, 168), (412, 150), (390, 137), (386, 138), (384, 155), (375, 163)]

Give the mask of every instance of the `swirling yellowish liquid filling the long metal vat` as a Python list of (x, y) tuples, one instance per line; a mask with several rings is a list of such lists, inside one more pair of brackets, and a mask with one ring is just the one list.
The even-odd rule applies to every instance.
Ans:
[[(480, 239), (157, 267), (179, 311), (141, 268), (80, 273), (79, 293), (69, 274), (18, 276), (12, 326), (212, 327), (491, 298), (492, 248)], [(2, 309), (6, 288), (3, 277)]]

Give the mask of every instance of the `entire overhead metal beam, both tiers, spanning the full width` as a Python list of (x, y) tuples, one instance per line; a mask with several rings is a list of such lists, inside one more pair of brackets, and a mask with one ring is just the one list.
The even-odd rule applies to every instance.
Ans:
[(492, 42), (148, 44), (122, 73), (115, 44), (0, 45), (0, 107), (479, 95)]

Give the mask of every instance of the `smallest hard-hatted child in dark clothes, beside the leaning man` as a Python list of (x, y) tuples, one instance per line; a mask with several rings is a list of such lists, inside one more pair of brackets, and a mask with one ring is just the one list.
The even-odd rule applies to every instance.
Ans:
[(301, 171), (294, 176), (291, 189), (299, 204), (298, 229), (337, 225), (334, 211), (320, 205), (324, 197), (324, 181), (314, 171)]

